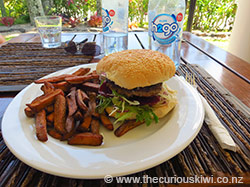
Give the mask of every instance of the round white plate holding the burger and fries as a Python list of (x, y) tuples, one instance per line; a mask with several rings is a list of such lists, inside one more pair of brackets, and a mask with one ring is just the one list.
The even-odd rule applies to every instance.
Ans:
[[(70, 73), (79, 67), (49, 76)], [(204, 110), (197, 92), (185, 81), (173, 77), (167, 84), (178, 91), (178, 105), (159, 123), (141, 125), (117, 138), (101, 128), (104, 144), (99, 147), (72, 146), (49, 136), (46, 143), (36, 139), (34, 119), (24, 114), (26, 103), (41, 95), (41, 85), (31, 84), (8, 106), (2, 121), (2, 133), (10, 151), (27, 165), (46, 173), (96, 179), (105, 175), (121, 176), (139, 172), (172, 158), (198, 134)]]

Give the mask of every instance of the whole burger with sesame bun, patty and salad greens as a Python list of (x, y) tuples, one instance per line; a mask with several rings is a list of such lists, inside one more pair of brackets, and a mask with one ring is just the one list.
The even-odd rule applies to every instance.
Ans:
[(115, 123), (136, 119), (149, 125), (177, 104), (176, 91), (165, 83), (175, 74), (175, 65), (161, 52), (112, 53), (99, 61), (96, 71), (102, 77), (97, 110), (116, 118)]

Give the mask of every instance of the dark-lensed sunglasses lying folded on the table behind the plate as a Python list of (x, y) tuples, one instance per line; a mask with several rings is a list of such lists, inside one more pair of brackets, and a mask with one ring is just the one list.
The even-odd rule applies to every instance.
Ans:
[[(86, 56), (98, 56), (101, 54), (101, 47), (96, 42), (88, 42), (88, 38), (76, 43), (73, 40), (76, 35), (64, 44), (64, 50), (71, 54), (82, 53)], [(95, 40), (95, 39), (94, 39)]]

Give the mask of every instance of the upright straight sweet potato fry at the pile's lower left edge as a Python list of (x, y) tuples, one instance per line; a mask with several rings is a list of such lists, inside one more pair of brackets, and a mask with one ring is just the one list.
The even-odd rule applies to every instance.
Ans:
[(48, 140), (47, 136), (47, 125), (46, 125), (46, 112), (41, 110), (36, 114), (36, 136), (38, 140), (46, 142)]

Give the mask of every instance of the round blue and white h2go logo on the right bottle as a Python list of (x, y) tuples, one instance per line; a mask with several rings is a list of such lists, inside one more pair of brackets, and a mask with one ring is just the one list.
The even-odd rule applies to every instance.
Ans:
[(160, 44), (170, 44), (176, 40), (181, 28), (174, 14), (159, 14), (152, 21), (152, 37)]

